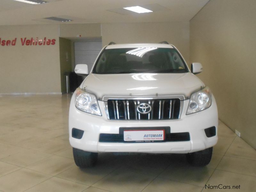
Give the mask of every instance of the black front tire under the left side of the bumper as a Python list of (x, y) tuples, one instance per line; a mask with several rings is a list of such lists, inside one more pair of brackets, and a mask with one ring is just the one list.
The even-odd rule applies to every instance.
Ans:
[(98, 159), (98, 153), (87, 152), (76, 148), (73, 148), (73, 156), (76, 166), (81, 168), (95, 166)]

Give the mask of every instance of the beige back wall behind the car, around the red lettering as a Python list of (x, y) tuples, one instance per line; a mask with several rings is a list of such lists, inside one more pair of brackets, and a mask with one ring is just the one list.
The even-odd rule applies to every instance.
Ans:
[[(81, 37), (76, 37), (77, 35)], [(63, 73), (70, 70), (65, 54), (70, 50), (69, 42), (63, 39), (59, 42), (59, 37), (71, 40), (71, 64), (74, 65), (73, 43), (101, 40), (101, 36), (103, 46), (110, 41), (168, 41), (180, 50), (187, 61), (189, 59), (189, 22), (0, 26), (2, 40), (17, 37), (15, 46), (0, 45), (0, 76), (3, 79), (0, 81), (0, 94), (65, 92)], [(20, 38), (24, 37), (47, 37), (56, 39), (56, 42), (54, 45), (22, 46)]]

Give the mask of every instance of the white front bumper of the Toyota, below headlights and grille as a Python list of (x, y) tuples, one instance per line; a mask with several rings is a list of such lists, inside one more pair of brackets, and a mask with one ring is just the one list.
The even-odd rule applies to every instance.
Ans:
[[(191, 153), (210, 148), (217, 143), (218, 111), (212, 95), (212, 106), (204, 111), (186, 115), (189, 100), (184, 100), (182, 115), (176, 120), (108, 120), (104, 102), (98, 101), (102, 116), (80, 111), (74, 94), (69, 108), (69, 142), (72, 147), (90, 152)], [(100, 133), (119, 134), (120, 127), (171, 127), (171, 133), (189, 132), (189, 141), (157, 143), (99, 142)], [(216, 135), (207, 137), (204, 129), (215, 126)], [(83, 130), (81, 139), (72, 137), (72, 128)]]

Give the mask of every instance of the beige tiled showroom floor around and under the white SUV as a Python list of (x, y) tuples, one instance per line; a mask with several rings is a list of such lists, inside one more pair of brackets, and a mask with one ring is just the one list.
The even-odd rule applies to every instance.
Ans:
[[(222, 122), (206, 167), (182, 154), (100, 154), (96, 167), (79, 169), (68, 142), (69, 100), (0, 96), (0, 192), (256, 191), (256, 151)], [(205, 189), (219, 184), (240, 189)]]

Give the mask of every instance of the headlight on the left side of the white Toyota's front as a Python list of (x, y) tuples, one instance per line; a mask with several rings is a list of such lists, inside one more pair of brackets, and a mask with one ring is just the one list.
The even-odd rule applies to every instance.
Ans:
[(81, 111), (101, 116), (100, 107), (96, 96), (86, 92), (79, 87), (75, 92), (75, 105)]

